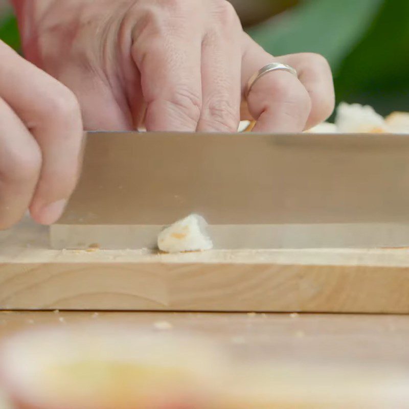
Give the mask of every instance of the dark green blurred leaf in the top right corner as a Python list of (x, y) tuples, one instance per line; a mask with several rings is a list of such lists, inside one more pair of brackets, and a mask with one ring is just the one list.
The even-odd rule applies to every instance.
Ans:
[(409, 111), (409, 2), (385, 0), (371, 29), (345, 58), (338, 100), (373, 105), (383, 115)]

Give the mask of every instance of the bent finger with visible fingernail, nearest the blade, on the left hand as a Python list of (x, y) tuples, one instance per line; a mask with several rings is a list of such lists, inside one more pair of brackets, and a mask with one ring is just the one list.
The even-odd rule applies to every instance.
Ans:
[(0, 60), (0, 79), (7, 78), (0, 80), (0, 95), (41, 149), (41, 171), (30, 211), (37, 222), (50, 224), (61, 215), (77, 182), (83, 138), (80, 108), (68, 88), (4, 44), (0, 44)]

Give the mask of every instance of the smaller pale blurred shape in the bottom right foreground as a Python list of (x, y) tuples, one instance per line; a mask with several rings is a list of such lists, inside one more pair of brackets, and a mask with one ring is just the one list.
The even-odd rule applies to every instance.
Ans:
[(403, 409), (407, 373), (391, 368), (260, 364), (237, 368), (222, 409)]

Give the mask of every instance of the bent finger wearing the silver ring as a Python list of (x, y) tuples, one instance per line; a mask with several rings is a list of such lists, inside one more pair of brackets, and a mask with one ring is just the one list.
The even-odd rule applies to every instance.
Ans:
[[(247, 35), (244, 37), (242, 90), (262, 66), (276, 61)], [(257, 124), (255, 132), (301, 132), (311, 111), (307, 90), (294, 75), (276, 71), (260, 78), (247, 96), (248, 110)]]

